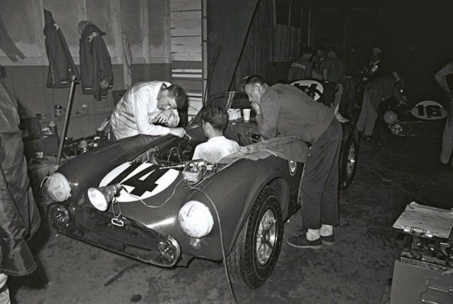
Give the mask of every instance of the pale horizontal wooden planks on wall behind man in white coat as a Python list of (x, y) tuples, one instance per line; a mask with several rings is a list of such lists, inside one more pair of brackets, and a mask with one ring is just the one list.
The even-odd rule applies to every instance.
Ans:
[(188, 95), (188, 120), (202, 107), (202, 1), (171, 0), (171, 74)]

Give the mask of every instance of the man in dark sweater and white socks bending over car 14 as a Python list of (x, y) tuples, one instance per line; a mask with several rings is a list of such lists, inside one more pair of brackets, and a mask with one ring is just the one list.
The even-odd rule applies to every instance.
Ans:
[(264, 139), (277, 134), (311, 144), (299, 187), (306, 233), (287, 240), (297, 248), (333, 245), (338, 219), (338, 160), (343, 130), (333, 111), (288, 84), (269, 86), (259, 75), (246, 76), (242, 88), (256, 112)]

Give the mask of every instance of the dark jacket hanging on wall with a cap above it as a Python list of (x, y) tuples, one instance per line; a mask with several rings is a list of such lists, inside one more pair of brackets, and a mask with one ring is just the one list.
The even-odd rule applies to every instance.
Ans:
[(94, 99), (107, 98), (113, 86), (110, 54), (103, 40), (105, 33), (90, 21), (80, 21), (80, 70), (82, 93)]

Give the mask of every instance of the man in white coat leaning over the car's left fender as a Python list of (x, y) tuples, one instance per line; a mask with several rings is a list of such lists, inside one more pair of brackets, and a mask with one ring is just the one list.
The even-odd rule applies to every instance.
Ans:
[(177, 108), (186, 103), (183, 88), (165, 81), (135, 83), (118, 101), (110, 117), (115, 139), (137, 134), (183, 137), (185, 130), (178, 128)]

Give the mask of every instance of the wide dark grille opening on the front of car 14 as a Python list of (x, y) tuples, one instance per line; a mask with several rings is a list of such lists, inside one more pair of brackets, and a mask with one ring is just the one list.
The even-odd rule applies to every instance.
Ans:
[(118, 226), (112, 221), (113, 214), (64, 203), (51, 204), (47, 217), (60, 233), (145, 263), (172, 267), (180, 259), (175, 239), (124, 217), (120, 217), (123, 225)]

